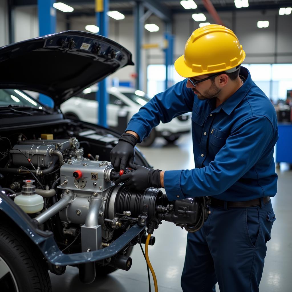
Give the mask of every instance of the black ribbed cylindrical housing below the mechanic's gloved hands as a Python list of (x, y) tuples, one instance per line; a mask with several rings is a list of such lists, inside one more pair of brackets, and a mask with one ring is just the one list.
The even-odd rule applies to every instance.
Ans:
[(150, 222), (157, 222), (156, 206), (162, 192), (157, 189), (146, 189), (140, 192), (132, 191), (126, 187), (121, 187), (116, 198), (116, 211), (123, 213), (123, 211), (131, 211), (131, 217), (138, 217), (138, 215), (146, 212)]

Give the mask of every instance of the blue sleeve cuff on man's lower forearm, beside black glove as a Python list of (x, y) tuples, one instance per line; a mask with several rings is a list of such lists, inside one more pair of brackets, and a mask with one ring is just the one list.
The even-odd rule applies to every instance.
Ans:
[(169, 170), (164, 172), (164, 188), (169, 201), (185, 199), (180, 187), (181, 173), (182, 170)]

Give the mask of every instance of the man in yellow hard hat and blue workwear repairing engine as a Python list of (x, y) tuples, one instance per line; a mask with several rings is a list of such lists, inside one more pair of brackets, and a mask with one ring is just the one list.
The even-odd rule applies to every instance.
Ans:
[[(135, 171), (116, 183), (141, 190), (164, 187), (169, 200), (210, 197), (211, 214), (188, 233), (184, 292), (259, 291), (277, 192), (273, 159), (278, 140), (274, 107), (240, 64), (245, 52), (220, 25), (196, 29), (175, 61), (184, 81), (154, 96), (129, 121), (111, 152), (116, 170)], [(196, 168), (150, 170), (133, 164), (134, 146), (160, 121), (192, 112)]]

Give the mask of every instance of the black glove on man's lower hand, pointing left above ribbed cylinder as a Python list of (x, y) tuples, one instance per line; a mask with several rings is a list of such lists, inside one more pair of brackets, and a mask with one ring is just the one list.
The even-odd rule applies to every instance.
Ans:
[(144, 190), (148, 187), (161, 188), (160, 169), (149, 169), (147, 167), (130, 164), (134, 171), (123, 174), (115, 181), (115, 184), (124, 183), (129, 189)]

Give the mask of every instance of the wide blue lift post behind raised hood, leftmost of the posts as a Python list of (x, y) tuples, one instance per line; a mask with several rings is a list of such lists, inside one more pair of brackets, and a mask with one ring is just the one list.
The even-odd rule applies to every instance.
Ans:
[[(56, 31), (56, 9), (53, 7), (54, 0), (38, 0), (39, 35), (53, 34)], [(46, 70), (46, 68), (44, 68)], [(39, 95), (39, 101), (54, 106), (51, 98), (44, 94)]]

